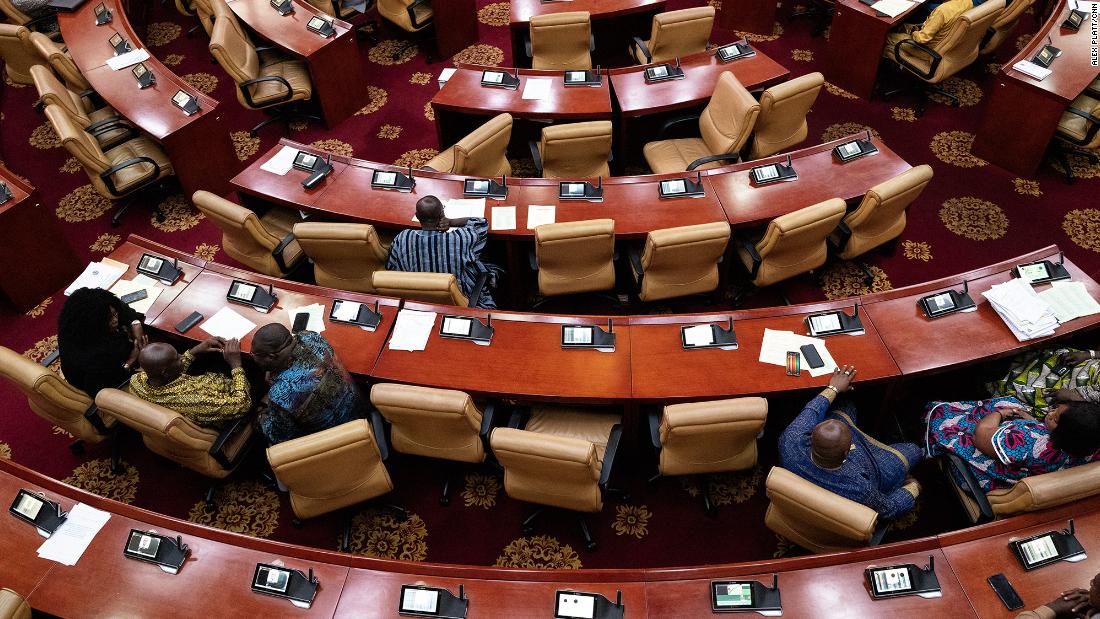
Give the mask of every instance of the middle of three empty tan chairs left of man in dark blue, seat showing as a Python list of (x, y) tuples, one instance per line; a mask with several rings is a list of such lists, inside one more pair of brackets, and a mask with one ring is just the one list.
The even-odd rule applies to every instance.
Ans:
[[(504, 491), (514, 499), (579, 512), (598, 512), (604, 496), (620, 494), (609, 487), (623, 427), (618, 414), (584, 410), (539, 409), (524, 421), (514, 414), (508, 428), (490, 434), (490, 444), (504, 467)], [(536, 511), (522, 523), (534, 532)], [(595, 550), (584, 517), (580, 517), (585, 546)]]

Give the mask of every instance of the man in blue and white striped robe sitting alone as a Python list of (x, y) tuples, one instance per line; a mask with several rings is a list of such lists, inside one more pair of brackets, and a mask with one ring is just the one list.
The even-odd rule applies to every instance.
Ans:
[[(394, 236), (387, 269), (450, 273), (468, 297), (482, 274), (494, 274), (494, 267), (481, 262), (481, 252), (488, 239), (488, 222), (484, 218), (448, 219), (443, 214), (443, 203), (435, 196), (417, 201), (416, 218), (420, 230), (403, 230)], [(496, 308), (487, 286), (482, 290), (477, 307)]]

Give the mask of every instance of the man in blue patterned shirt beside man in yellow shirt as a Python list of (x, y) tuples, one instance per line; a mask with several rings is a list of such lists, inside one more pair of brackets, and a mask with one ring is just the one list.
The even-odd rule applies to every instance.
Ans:
[(267, 410), (256, 425), (274, 445), (362, 418), (362, 396), (319, 333), (292, 335), (277, 322), (252, 338), (252, 357), (267, 373)]

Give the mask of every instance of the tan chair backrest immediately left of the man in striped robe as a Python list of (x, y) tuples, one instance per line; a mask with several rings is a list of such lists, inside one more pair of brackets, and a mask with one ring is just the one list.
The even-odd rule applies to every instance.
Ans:
[(386, 268), (389, 250), (369, 223), (301, 222), (294, 237), (314, 261), (318, 286), (373, 292), (371, 277)]

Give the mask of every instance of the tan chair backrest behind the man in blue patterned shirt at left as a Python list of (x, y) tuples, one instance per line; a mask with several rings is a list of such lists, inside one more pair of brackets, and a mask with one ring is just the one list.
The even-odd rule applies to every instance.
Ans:
[(356, 419), (267, 447), (275, 478), (298, 518), (312, 518), (394, 488), (371, 423)]

